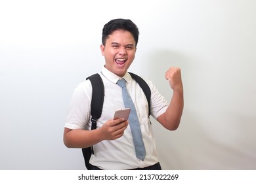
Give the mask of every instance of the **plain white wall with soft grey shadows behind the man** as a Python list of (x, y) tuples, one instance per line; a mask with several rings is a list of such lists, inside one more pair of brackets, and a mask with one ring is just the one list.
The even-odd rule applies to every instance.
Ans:
[(163, 169), (256, 169), (256, 1), (0, 1), (0, 169), (85, 169), (62, 142), (79, 82), (104, 65), (102, 27), (140, 30), (129, 71), (167, 100), (181, 67), (179, 129), (152, 120)]

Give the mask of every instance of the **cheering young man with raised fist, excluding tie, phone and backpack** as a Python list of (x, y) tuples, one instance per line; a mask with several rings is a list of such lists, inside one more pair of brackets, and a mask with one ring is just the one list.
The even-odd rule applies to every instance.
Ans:
[[(104, 105), (97, 120), (97, 128), (91, 129), (91, 95), (89, 80), (75, 88), (64, 129), (64, 144), (68, 148), (93, 146), (95, 154), (90, 163), (93, 169), (161, 169), (152, 125), (148, 118), (148, 103), (139, 84), (127, 73), (135, 59), (139, 29), (131, 20), (115, 19), (104, 25), (100, 50), (105, 58), (100, 76), (104, 83)], [(129, 120), (114, 120), (114, 112), (125, 108), (122, 88), (117, 84), (126, 80), (126, 88), (135, 104), (146, 156), (139, 159), (135, 153)], [(146, 80), (151, 90), (151, 115), (163, 127), (175, 130), (179, 127), (183, 110), (181, 69), (170, 67), (165, 73), (173, 90), (171, 102), (160, 95), (156, 87)]]

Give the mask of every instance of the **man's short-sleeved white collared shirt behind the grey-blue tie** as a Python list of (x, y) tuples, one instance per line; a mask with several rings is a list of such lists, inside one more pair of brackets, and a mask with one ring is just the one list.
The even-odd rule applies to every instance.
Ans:
[[(114, 118), (114, 112), (117, 109), (125, 108), (121, 87), (116, 84), (119, 76), (111, 73), (105, 67), (102, 68), (100, 76), (104, 83), (104, 104), (102, 115), (97, 120), (97, 127), (101, 127), (106, 121)], [(91, 156), (90, 163), (100, 169), (135, 169), (148, 167), (159, 162), (152, 125), (148, 118), (146, 96), (129, 73), (126, 73), (123, 78), (127, 81), (127, 91), (135, 103), (146, 148), (146, 157), (144, 161), (136, 157), (133, 137), (128, 125), (124, 135), (119, 139), (102, 141), (93, 146), (95, 154)], [(158, 118), (165, 112), (169, 104), (152, 82), (149, 80), (146, 82), (151, 90), (151, 115), (153, 118)], [(92, 86), (89, 80), (82, 82), (75, 88), (68, 108), (65, 127), (91, 130), (91, 95)]]

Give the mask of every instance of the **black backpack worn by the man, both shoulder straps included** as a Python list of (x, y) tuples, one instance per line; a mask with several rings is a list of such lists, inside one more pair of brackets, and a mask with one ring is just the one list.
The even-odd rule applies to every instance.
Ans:
[[(140, 88), (142, 88), (144, 94), (146, 95), (146, 99), (148, 101), (148, 117), (150, 116), (150, 98), (151, 98), (151, 90), (146, 84), (146, 82), (138, 75), (135, 75), (134, 73), (129, 73), (131, 77), (136, 80), (136, 82), (140, 85)], [(102, 82), (102, 78), (100, 75), (94, 74), (89, 76), (88, 78), (91, 81), (92, 87), (93, 87), (93, 95), (91, 99), (91, 130), (96, 129), (96, 121), (98, 118), (100, 118), (102, 113), (102, 107), (104, 102), (104, 84)], [(85, 159), (85, 167), (87, 167), (88, 170), (92, 168), (92, 165), (89, 163), (89, 160), (91, 158), (91, 154), (94, 154), (93, 146), (88, 148), (82, 148), (83, 152), (83, 158)]]

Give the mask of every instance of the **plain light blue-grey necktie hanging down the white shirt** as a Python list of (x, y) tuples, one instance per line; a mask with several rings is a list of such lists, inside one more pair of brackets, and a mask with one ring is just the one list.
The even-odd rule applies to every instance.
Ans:
[(133, 135), (133, 143), (135, 145), (137, 158), (143, 161), (146, 156), (146, 150), (145, 150), (144, 142), (142, 140), (140, 124), (139, 124), (137, 112), (135, 109), (135, 105), (133, 103), (133, 100), (131, 99), (131, 96), (127, 92), (127, 89), (125, 86), (126, 81), (123, 78), (121, 78), (117, 82), (117, 84), (122, 88), (123, 103), (125, 104), (125, 108), (131, 108), (131, 113), (129, 115), (129, 125), (131, 127), (131, 133)]

